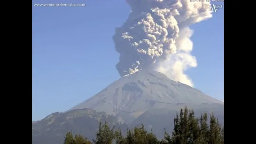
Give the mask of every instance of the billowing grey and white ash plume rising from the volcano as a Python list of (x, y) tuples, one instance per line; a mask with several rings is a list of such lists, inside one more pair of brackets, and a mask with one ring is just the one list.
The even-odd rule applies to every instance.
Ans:
[(187, 68), (197, 66), (195, 57), (190, 54), (193, 31), (188, 26), (212, 16), (212, 11), (205, 8), (209, 2), (126, 1), (131, 6), (131, 14), (113, 36), (116, 51), (120, 53), (116, 64), (120, 76), (151, 68), (172, 80), (193, 86), (184, 73)]

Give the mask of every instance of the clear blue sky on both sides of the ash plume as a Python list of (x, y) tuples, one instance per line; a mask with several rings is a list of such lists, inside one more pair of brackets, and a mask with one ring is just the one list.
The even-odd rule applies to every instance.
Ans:
[[(86, 7), (32, 8), (32, 121), (63, 112), (120, 78), (112, 36), (130, 13), (125, 0), (33, 0)], [(194, 30), (194, 88), (224, 99), (224, 10)]]

